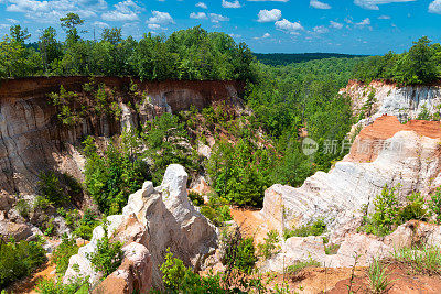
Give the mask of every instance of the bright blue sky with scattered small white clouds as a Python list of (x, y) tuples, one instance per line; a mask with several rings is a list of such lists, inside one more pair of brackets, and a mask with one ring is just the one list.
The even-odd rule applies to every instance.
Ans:
[(254, 52), (401, 53), (422, 35), (441, 40), (441, 0), (0, 0), (0, 34), (20, 23), (36, 41), (58, 19), (76, 12), (93, 37), (122, 28), (136, 39), (201, 24)]

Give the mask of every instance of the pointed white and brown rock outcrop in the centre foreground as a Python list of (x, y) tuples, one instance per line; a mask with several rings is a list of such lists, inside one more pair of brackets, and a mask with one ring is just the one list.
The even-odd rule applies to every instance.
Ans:
[[(187, 174), (184, 168), (172, 164), (166, 168), (161, 186), (153, 188), (151, 182), (146, 182), (142, 189), (130, 195), (122, 215), (107, 218), (108, 236), (126, 244), (126, 254), (122, 268), (120, 266), (117, 272), (107, 277), (101, 284), (103, 287), (118, 284), (118, 288), (125, 288), (121, 293), (127, 293), (126, 290), (137, 288), (132, 286), (137, 284), (138, 290), (141, 290), (141, 285), (148, 285), (150, 282), (137, 280), (132, 276), (133, 274), (127, 275), (127, 273), (150, 270), (150, 274), (139, 274), (139, 276), (150, 279), (153, 286), (161, 287), (162, 274), (159, 266), (164, 262), (168, 249), (196, 271), (200, 270), (204, 260), (213, 254), (217, 247), (216, 228), (189, 200), (186, 181)], [(103, 227), (95, 228), (90, 243), (82, 247), (78, 254), (71, 258), (63, 280), (65, 283), (77, 276), (89, 276), (92, 284), (99, 281), (100, 275), (94, 271), (87, 253), (96, 249), (97, 241), (104, 233)], [(128, 247), (139, 248), (142, 252), (148, 250), (149, 254), (136, 254), (135, 260), (130, 259), (131, 251)], [(149, 262), (150, 270), (146, 268), (146, 263)]]

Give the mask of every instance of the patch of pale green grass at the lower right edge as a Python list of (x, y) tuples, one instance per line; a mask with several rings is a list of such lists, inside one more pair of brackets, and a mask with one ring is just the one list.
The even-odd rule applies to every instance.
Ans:
[(396, 250), (394, 258), (407, 263), (413, 272), (429, 275), (441, 274), (441, 250), (439, 247), (402, 248)]

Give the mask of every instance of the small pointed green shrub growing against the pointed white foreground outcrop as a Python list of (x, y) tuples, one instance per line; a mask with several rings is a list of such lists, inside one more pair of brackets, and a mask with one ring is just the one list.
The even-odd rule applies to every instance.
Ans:
[(104, 276), (108, 276), (121, 264), (123, 252), (121, 242), (110, 242), (107, 236), (107, 226), (105, 225), (103, 228), (105, 233), (97, 241), (95, 252), (87, 253), (87, 259), (96, 271), (101, 272)]

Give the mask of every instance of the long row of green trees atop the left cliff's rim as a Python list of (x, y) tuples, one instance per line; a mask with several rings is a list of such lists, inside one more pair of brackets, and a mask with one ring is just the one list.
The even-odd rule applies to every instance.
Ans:
[(63, 42), (49, 26), (28, 44), (28, 29), (12, 25), (0, 42), (0, 78), (28, 76), (138, 76), (144, 80), (227, 80), (252, 78), (254, 56), (245, 43), (225, 33), (194, 26), (165, 35), (122, 39), (121, 29), (104, 29), (99, 41), (86, 40), (84, 20), (61, 18)]

